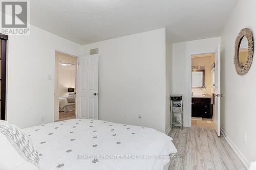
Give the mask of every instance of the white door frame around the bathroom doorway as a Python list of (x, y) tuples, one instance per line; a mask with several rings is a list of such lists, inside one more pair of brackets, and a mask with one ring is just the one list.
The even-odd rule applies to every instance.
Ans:
[(191, 78), (191, 58), (192, 58), (192, 56), (193, 55), (203, 55), (203, 54), (215, 54), (216, 53), (216, 50), (210, 50), (210, 51), (203, 51), (203, 52), (197, 52), (197, 53), (190, 53), (189, 54), (189, 61), (188, 61), (188, 65), (189, 65), (189, 69), (188, 69), (188, 78), (189, 78), (189, 85), (188, 85), (188, 96), (189, 96), (189, 98), (188, 98), (188, 127), (191, 127), (191, 117), (192, 117), (192, 96), (191, 96), (191, 92), (192, 92), (192, 90), (191, 90), (191, 88), (192, 88), (192, 85), (191, 85), (191, 80), (192, 80), (192, 78)]

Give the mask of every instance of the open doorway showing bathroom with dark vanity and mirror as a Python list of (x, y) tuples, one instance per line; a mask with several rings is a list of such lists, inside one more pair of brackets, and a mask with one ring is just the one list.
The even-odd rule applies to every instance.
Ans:
[(215, 53), (191, 55), (191, 127), (215, 129)]

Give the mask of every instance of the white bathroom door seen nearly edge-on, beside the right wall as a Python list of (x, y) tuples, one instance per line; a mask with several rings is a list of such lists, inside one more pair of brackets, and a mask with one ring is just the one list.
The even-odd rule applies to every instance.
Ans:
[(218, 45), (215, 54), (215, 130), (218, 136), (221, 136), (221, 62), (220, 45)]

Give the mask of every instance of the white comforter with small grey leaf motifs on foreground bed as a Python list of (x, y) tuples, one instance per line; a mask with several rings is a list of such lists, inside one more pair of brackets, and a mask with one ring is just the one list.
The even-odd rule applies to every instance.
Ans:
[(24, 131), (39, 152), (42, 170), (159, 170), (177, 152), (172, 138), (159, 131), (103, 120), (71, 119)]

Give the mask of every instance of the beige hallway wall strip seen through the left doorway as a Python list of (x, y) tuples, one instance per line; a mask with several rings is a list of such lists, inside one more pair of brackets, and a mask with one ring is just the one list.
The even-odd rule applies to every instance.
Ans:
[(54, 74), (54, 120), (59, 119), (59, 103), (58, 103), (58, 68), (59, 68), (59, 62), (65, 62), (69, 64), (76, 65), (76, 57), (70, 56), (68, 54), (55, 52), (55, 74)]

